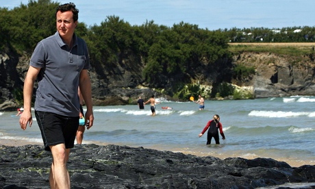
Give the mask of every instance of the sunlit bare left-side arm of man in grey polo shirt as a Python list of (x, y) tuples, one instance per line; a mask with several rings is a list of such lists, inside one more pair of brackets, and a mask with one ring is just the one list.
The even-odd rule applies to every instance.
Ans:
[(29, 66), (25, 77), (23, 87), (24, 111), (20, 117), (20, 126), (23, 130), (26, 129), (27, 123), (29, 123), (29, 127), (31, 127), (31, 96), (33, 95), (34, 82), (39, 72), (40, 68)]

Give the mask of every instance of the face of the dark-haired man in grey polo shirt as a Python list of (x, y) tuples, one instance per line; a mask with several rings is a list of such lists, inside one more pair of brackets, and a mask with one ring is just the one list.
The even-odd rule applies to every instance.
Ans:
[(71, 10), (66, 12), (58, 11), (56, 14), (56, 27), (62, 39), (71, 39), (77, 27), (77, 21), (73, 21)]

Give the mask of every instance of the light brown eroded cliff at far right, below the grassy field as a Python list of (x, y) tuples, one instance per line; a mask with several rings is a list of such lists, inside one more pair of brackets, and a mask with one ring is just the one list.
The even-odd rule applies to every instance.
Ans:
[(312, 54), (292, 57), (271, 53), (240, 53), (234, 57), (234, 61), (235, 64), (255, 68), (253, 78), (242, 85), (253, 86), (256, 98), (315, 94)]

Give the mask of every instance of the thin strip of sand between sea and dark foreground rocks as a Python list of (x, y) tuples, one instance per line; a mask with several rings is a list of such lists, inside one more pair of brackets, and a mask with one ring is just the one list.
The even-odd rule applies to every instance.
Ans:
[[(4, 146), (9, 146), (9, 147), (21, 147), (21, 146), (28, 145), (28, 144), (31, 144), (31, 145), (43, 145), (42, 142), (30, 142), (29, 140), (21, 140), (21, 139), (14, 139), (14, 140), (12, 140), (12, 139), (0, 138), (0, 145), (1, 146), (4, 145)], [(108, 145), (108, 143), (105, 143), (105, 142), (86, 142), (86, 143), (83, 143), (83, 144), (97, 144), (97, 145), (101, 145), (101, 146)], [(156, 150), (164, 151), (164, 150), (161, 150), (161, 149), (156, 149)], [(187, 151), (186, 152), (185, 151), (173, 151), (173, 152), (184, 153), (186, 155), (188, 155), (188, 154), (196, 155), (196, 156), (199, 156), (199, 157), (207, 156), (207, 155), (201, 155), (201, 154), (198, 154), (198, 153), (193, 153), (192, 151), (189, 151), (189, 152), (187, 152)], [(240, 157), (240, 156), (237, 156), (237, 155), (235, 156), (235, 155), (219, 155), (219, 154), (211, 155), (211, 156), (218, 157), (221, 160), (224, 160), (224, 159), (226, 159), (228, 157)], [(253, 159), (258, 158), (258, 157), (253, 156), (253, 157), (241, 157), (241, 158), (244, 158), (244, 159), (247, 159), (247, 160), (253, 160)], [(288, 160), (288, 159), (283, 158), (283, 157), (262, 157), (262, 158), (271, 158), (271, 159), (276, 160), (278, 162), (286, 162), (287, 164), (289, 164), (292, 167), (299, 167), (299, 166), (303, 166), (303, 165), (314, 165), (315, 164), (314, 161)]]

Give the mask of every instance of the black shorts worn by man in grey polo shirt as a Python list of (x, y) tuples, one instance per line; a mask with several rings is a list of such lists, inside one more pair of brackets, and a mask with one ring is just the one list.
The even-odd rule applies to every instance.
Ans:
[(69, 117), (39, 111), (35, 111), (35, 116), (46, 151), (51, 151), (49, 146), (62, 143), (65, 144), (66, 149), (74, 147), (77, 127), (79, 127), (79, 116)]

